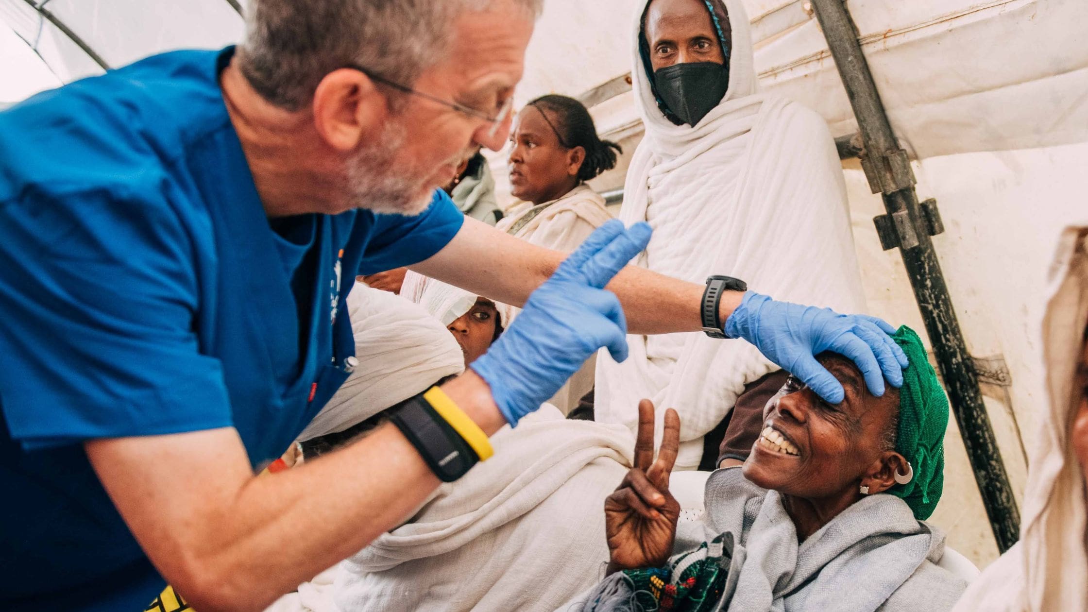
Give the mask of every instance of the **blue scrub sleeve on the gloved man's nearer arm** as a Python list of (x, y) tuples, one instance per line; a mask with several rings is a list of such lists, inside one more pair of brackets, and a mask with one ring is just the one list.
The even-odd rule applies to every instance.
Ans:
[(196, 270), (164, 196), (0, 203), (0, 409), (12, 438), (30, 450), (232, 425), (219, 359), (199, 352)]

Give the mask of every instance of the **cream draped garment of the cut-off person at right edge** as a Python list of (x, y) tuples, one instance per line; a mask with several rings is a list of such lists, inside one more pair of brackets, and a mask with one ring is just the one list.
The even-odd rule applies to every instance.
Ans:
[(1050, 273), (1047, 403), (1028, 462), (1021, 540), (972, 583), (954, 612), (1088, 611), (1085, 475), (1070, 441), (1088, 325), (1088, 223), (1062, 234)]

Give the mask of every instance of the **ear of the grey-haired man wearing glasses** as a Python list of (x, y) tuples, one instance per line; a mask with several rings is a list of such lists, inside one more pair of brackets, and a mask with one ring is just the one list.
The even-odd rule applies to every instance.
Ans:
[(333, 149), (347, 152), (380, 128), (388, 100), (369, 76), (353, 69), (334, 70), (313, 91), (313, 125)]

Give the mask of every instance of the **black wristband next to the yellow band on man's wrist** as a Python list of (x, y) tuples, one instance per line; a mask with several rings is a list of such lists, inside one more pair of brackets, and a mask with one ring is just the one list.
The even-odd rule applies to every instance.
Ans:
[(390, 411), (390, 421), (404, 433), (431, 472), (443, 482), (465, 476), (477, 464), (475, 452), (423, 399), (413, 395)]

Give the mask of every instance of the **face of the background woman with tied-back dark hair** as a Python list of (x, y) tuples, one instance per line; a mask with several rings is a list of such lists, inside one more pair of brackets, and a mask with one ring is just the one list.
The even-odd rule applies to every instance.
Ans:
[[(551, 114), (547, 120), (545, 112)], [(548, 120), (558, 125), (555, 113), (528, 106), (518, 113), (510, 134), (510, 194), (533, 204), (561, 197), (577, 183), (579, 167), (572, 167), (570, 149), (559, 143)]]

